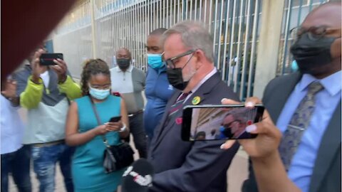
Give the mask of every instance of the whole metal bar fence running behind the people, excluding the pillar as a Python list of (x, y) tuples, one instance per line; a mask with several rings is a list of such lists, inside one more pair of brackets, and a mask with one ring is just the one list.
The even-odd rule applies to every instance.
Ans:
[[(284, 6), (283, 17), (279, 18), (278, 62), (271, 64), (276, 65), (276, 76), (291, 73), (293, 58), (289, 48), (293, 40), (289, 31), (325, 1), (273, 2)], [(64, 53), (76, 78), (80, 77), (81, 63), (88, 58), (102, 58), (110, 68), (114, 67), (115, 52), (122, 47), (132, 52), (135, 67), (146, 70), (145, 42), (150, 31), (170, 28), (184, 20), (201, 21), (214, 39), (215, 65), (222, 73), (222, 80), (244, 100), (254, 93), (261, 24), (271, 27), (270, 23), (261, 23), (261, 9), (269, 3), (269, 0), (81, 0), (53, 31), (53, 49)], [(262, 64), (261, 60), (258, 70), (269, 70)], [(255, 89), (263, 88), (256, 86)]]

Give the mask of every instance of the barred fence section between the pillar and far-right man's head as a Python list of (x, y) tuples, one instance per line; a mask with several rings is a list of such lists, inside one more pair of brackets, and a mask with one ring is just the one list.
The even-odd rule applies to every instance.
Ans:
[(283, 23), (281, 28), (281, 40), (279, 43), (279, 63), (276, 75), (292, 73), (291, 63), (294, 60), (290, 53), (290, 47), (294, 43), (290, 31), (300, 26), (309, 12), (315, 7), (327, 2), (326, 0), (288, 0), (285, 1)]

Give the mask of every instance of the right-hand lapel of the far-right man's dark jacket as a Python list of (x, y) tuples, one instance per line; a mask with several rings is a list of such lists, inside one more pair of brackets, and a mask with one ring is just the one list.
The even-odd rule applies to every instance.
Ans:
[[(328, 174), (328, 169), (334, 160), (333, 157), (341, 146), (341, 100), (336, 107), (333, 116), (326, 128), (326, 132), (321, 139), (321, 145), (318, 149), (317, 158), (312, 173), (310, 190), (318, 191), (323, 178)], [(336, 151), (336, 152), (334, 152)], [(339, 151), (341, 153), (341, 151)]]

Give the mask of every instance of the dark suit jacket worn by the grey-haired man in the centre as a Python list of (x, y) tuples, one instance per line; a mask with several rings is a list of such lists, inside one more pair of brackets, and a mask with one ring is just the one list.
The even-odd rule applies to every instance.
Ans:
[[(182, 124), (175, 119), (182, 117), (182, 109), (167, 123), (170, 106), (175, 103), (180, 91), (176, 91), (167, 102), (160, 125), (155, 129), (148, 160), (155, 168), (153, 186), (150, 191), (227, 191), (227, 169), (239, 148), (222, 151), (224, 141), (184, 142), (181, 139)], [(221, 104), (222, 98), (239, 100), (237, 95), (222, 82), (215, 73), (185, 102), (192, 105), (193, 97), (200, 97), (199, 105)]]

